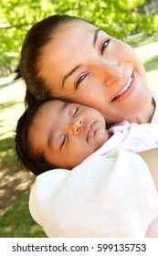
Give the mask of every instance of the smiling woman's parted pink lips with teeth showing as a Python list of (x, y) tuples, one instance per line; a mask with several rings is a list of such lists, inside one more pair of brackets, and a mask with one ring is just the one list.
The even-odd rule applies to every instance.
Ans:
[(117, 96), (115, 96), (112, 99), (112, 101), (121, 101), (121, 100), (125, 99), (126, 97), (128, 97), (135, 88), (134, 84), (135, 84), (135, 78), (134, 78), (134, 75), (132, 72), (131, 78), (128, 80), (126, 85), (121, 89), (121, 91), (117, 94)]

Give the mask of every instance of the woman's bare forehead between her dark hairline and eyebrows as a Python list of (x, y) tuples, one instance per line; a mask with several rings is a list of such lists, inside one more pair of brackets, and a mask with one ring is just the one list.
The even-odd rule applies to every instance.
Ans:
[[(71, 60), (74, 62), (76, 58), (80, 57), (81, 52), (87, 56), (87, 50), (93, 48), (99, 31), (98, 27), (84, 21), (68, 22), (61, 25), (43, 48), (40, 56), (41, 64), (49, 69), (50, 63), (56, 68), (60, 61), (62, 63), (66, 61), (65, 66), (60, 66), (59, 70), (67, 69)], [(79, 64), (78, 59), (77, 63)]]

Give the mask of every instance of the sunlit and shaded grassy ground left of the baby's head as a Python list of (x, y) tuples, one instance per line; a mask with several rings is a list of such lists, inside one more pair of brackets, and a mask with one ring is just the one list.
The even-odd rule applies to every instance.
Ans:
[(0, 79), (0, 238), (45, 238), (28, 211), (32, 176), (18, 165), (14, 148), (16, 122), (24, 112), (25, 87)]

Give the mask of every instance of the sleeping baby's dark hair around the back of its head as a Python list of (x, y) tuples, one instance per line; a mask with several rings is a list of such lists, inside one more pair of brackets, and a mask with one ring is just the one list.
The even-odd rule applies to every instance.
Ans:
[(27, 138), (28, 129), (40, 106), (47, 101), (54, 100), (55, 99), (49, 99), (46, 101), (35, 102), (26, 109), (16, 125), (15, 146), (17, 159), (26, 168), (26, 170), (31, 171), (35, 176), (38, 176), (47, 170), (56, 168), (56, 166), (47, 163), (42, 153), (33, 153)]

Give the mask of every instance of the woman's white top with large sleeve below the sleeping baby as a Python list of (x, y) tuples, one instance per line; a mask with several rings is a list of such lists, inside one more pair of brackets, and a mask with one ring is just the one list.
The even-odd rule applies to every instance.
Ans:
[(142, 158), (117, 149), (37, 176), (29, 208), (48, 237), (145, 237), (158, 197)]

